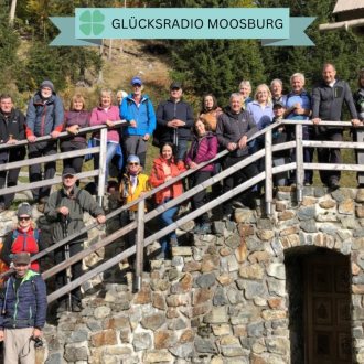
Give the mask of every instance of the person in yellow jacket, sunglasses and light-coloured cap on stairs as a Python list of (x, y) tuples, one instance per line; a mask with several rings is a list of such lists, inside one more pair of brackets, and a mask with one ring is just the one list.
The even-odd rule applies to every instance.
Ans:
[[(127, 160), (126, 172), (121, 178), (119, 188), (119, 199), (122, 205), (126, 205), (151, 190), (149, 176), (141, 173), (142, 167), (140, 159), (136, 154), (130, 154)], [(138, 205), (131, 206), (129, 210), (122, 211), (120, 215), (121, 226), (128, 225), (136, 220)], [(135, 244), (136, 233), (131, 232), (126, 236), (126, 248)]]

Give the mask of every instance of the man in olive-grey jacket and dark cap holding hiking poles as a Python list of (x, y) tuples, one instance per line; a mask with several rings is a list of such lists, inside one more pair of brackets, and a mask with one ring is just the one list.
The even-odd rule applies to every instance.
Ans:
[[(71, 234), (79, 232), (85, 227), (83, 217), (88, 212), (96, 217), (99, 224), (104, 224), (106, 218), (103, 208), (96, 203), (93, 196), (85, 190), (81, 190), (76, 185), (75, 170), (66, 167), (62, 173), (63, 188), (51, 194), (44, 208), (45, 217), (53, 224), (52, 239), (53, 243), (60, 242)], [(83, 249), (83, 242), (87, 238), (87, 234), (76, 237), (69, 244), (54, 251), (55, 264), (64, 261), (67, 256), (74, 256)], [(82, 261), (77, 261), (72, 266), (72, 277), (74, 279), (82, 276)], [(56, 288), (61, 288), (67, 283), (67, 277), (64, 271), (56, 275)], [(81, 311), (81, 289), (75, 288), (72, 291), (72, 307), (68, 309), (75, 312)], [(67, 309), (66, 297), (61, 298), (58, 311)]]

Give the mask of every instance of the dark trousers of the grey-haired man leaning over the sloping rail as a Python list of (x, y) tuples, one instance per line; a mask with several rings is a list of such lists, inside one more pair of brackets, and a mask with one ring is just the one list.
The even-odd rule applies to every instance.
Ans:
[[(227, 168), (236, 164), (237, 162), (242, 161), (243, 159), (247, 158), (248, 156), (243, 156), (243, 157), (232, 157), (227, 156), (223, 162), (223, 169), (226, 170)], [(223, 193), (226, 193), (237, 185), (250, 180), (255, 175), (257, 175), (258, 169), (256, 163), (250, 163), (247, 167), (236, 171), (234, 174), (227, 176), (224, 180), (224, 185), (223, 185)], [(242, 200), (244, 204), (247, 204), (249, 206), (254, 206), (254, 200), (251, 199), (251, 188), (244, 191), (239, 195), (235, 196), (235, 200)], [(232, 201), (228, 200), (224, 203), (224, 213), (225, 214), (231, 214), (233, 212), (233, 206), (232, 206)]]

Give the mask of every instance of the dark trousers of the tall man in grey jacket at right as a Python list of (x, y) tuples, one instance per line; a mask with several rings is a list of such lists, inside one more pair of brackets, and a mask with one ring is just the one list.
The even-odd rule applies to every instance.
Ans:
[[(329, 129), (324, 132), (319, 129), (315, 139), (322, 141), (343, 141), (343, 133), (338, 129)], [(341, 163), (341, 150), (339, 148), (318, 148), (318, 160), (319, 163)], [(332, 181), (339, 182), (340, 176), (340, 171), (320, 171), (321, 182), (324, 184), (330, 184)]]

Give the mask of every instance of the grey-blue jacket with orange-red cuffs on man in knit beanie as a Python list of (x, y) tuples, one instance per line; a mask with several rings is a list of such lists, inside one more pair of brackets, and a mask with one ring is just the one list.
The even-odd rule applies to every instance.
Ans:
[(52, 94), (44, 100), (38, 92), (29, 101), (26, 109), (26, 137), (49, 136), (52, 131), (62, 131), (64, 121), (63, 103)]

